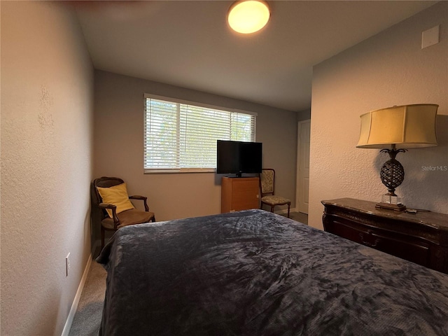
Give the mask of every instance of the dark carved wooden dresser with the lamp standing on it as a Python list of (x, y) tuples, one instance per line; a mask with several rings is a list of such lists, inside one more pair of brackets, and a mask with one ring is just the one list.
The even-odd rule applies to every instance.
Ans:
[(352, 198), (322, 204), (325, 231), (448, 274), (447, 214), (377, 209)]

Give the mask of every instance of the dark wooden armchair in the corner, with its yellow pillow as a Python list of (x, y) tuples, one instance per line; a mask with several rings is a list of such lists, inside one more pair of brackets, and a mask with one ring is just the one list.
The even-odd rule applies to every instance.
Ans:
[[(92, 218), (94, 218), (94, 212), (99, 214), (101, 221), (101, 248), (104, 247), (104, 235), (106, 231), (116, 231), (127, 225), (155, 222), (154, 213), (149, 211), (147, 203), (148, 197), (140, 195), (128, 196), (126, 185), (124, 183), (125, 182), (122, 179), (118, 179), (117, 177), (106, 176), (94, 179), (91, 183), (90, 196), (92, 198)], [(105, 189), (111, 187), (113, 187), (113, 189)], [(117, 200), (120, 197), (122, 199), (118, 200), (116, 204), (113, 204), (112, 202), (103, 202), (101, 193), (103, 193), (103, 196), (106, 195), (106, 201), (113, 199)], [(109, 196), (109, 194), (115, 196)], [(116, 195), (120, 195), (120, 197)], [(123, 198), (126, 197), (127, 199), (123, 200)], [(135, 209), (130, 200), (143, 201), (145, 211)], [(123, 203), (120, 202), (128, 203), (125, 203), (125, 207), (123, 207)], [(122, 211), (121, 209), (125, 210)]]

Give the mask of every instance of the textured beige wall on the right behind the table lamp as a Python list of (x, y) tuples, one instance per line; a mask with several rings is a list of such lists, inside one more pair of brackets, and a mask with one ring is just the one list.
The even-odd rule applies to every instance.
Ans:
[[(421, 32), (440, 25), (440, 43), (421, 49)], [(321, 200), (377, 202), (386, 193), (379, 169), (388, 155), (356, 148), (360, 114), (393, 105), (439, 104), (439, 146), (411, 149), (397, 159), (405, 181), (395, 193), (408, 207), (448, 213), (448, 2), (332, 57), (313, 71), (309, 223), (322, 228)]]

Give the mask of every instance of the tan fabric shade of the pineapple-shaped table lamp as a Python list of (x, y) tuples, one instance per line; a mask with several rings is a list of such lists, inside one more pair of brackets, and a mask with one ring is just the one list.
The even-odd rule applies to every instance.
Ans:
[(413, 104), (370, 111), (360, 116), (358, 148), (437, 146), (437, 104)]

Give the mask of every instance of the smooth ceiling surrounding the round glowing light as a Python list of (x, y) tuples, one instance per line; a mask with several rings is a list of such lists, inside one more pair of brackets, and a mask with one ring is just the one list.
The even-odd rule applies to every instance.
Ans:
[(79, 1), (95, 69), (289, 111), (311, 106), (312, 66), (437, 1), (268, 1), (255, 34), (230, 31), (233, 1)]

